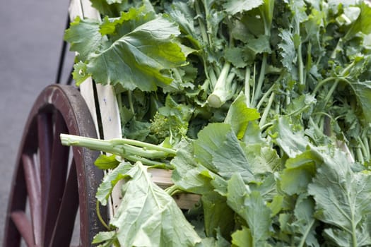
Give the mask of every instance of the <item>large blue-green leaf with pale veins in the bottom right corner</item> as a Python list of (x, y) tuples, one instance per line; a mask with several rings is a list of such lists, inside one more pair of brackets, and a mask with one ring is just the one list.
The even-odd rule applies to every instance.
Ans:
[(308, 186), (316, 202), (315, 217), (332, 225), (324, 232), (337, 246), (370, 245), (370, 172), (353, 172), (340, 151), (323, 157), (324, 164)]

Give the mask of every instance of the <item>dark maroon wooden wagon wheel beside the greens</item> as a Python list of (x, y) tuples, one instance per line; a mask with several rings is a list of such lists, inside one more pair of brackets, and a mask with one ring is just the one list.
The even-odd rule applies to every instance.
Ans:
[(50, 85), (37, 98), (25, 125), (4, 247), (20, 246), (21, 239), (27, 246), (69, 246), (76, 215), (81, 246), (90, 246), (93, 236), (102, 231), (95, 192), (103, 174), (93, 165), (99, 153), (62, 146), (60, 133), (96, 137), (80, 93), (68, 85)]

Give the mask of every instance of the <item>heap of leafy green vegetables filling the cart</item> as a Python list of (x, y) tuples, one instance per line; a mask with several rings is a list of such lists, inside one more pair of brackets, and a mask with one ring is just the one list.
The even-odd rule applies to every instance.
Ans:
[[(117, 93), (101, 246), (370, 246), (371, 6), (337, 0), (96, 1), (76, 18), (76, 85)], [(146, 166), (146, 167), (145, 167)], [(174, 185), (147, 167), (172, 170)], [(179, 210), (171, 195), (195, 193)], [(177, 236), (177, 237), (175, 237)]]

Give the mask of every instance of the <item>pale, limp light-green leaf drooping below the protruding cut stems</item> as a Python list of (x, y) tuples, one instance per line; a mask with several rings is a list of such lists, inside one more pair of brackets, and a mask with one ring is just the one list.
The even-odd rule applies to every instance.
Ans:
[(124, 198), (110, 224), (121, 246), (195, 246), (201, 242), (175, 200), (151, 181), (141, 163), (127, 173)]

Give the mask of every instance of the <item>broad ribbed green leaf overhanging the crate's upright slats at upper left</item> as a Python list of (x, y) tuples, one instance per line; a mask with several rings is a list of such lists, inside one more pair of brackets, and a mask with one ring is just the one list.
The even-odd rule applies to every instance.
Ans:
[(124, 88), (156, 90), (172, 78), (167, 69), (182, 66), (185, 56), (175, 41), (175, 23), (158, 17), (135, 28), (101, 52), (90, 54), (87, 71), (102, 84), (121, 84)]

